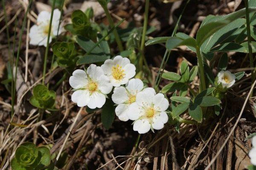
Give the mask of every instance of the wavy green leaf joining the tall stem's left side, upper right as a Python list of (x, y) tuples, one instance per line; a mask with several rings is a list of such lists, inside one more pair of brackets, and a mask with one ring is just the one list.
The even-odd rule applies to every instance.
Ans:
[(182, 40), (178, 37), (169, 37), (169, 39), (166, 42), (166, 48), (168, 50), (172, 50), (173, 48), (176, 48), (180, 45), (188, 45), (192, 47), (196, 47), (195, 39), (190, 37), (185, 40)]

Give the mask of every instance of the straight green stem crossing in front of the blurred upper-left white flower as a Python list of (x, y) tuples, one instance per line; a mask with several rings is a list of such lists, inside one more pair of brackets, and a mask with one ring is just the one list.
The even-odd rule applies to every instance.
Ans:
[(44, 55), (44, 70), (43, 70), (42, 84), (44, 84), (44, 79), (45, 79), (45, 74), (46, 74), (46, 64), (47, 64), (47, 57), (48, 57), (48, 51), (49, 51), (49, 40), (50, 40), (50, 35), (52, 32), (51, 31), (52, 30), (52, 17), (53, 17), (53, 11), (55, 8), (55, 2), (56, 2), (56, 0), (53, 0), (53, 2), (52, 2), (52, 12), (51, 12), (51, 18), (50, 18), (49, 29), (48, 29), (47, 45), (46, 45), (45, 55)]

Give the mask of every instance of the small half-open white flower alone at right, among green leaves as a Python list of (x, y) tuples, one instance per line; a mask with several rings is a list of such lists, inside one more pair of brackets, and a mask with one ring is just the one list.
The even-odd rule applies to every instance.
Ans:
[(220, 71), (218, 73), (218, 84), (221, 84), (223, 88), (230, 88), (236, 81), (235, 74), (230, 71)]

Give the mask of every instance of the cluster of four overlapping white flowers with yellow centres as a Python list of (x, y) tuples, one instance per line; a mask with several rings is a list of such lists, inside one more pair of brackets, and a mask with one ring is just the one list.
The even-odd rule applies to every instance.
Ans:
[(153, 88), (144, 88), (140, 79), (134, 79), (135, 69), (122, 56), (107, 59), (101, 67), (91, 64), (86, 71), (78, 69), (69, 79), (75, 91), (71, 99), (79, 107), (102, 108), (114, 86), (111, 98), (121, 121), (133, 120), (133, 129), (139, 133), (162, 129), (168, 121), (165, 111), (169, 101)]

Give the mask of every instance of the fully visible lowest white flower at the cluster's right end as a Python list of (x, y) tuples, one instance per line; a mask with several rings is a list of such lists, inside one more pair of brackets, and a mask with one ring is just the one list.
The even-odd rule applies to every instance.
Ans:
[(136, 102), (129, 108), (128, 118), (134, 121), (133, 129), (146, 133), (150, 129), (160, 130), (168, 121), (166, 109), (169, 102), (163, 94), (156, 94), (153, 88), (145, 88), (136, 96)]

